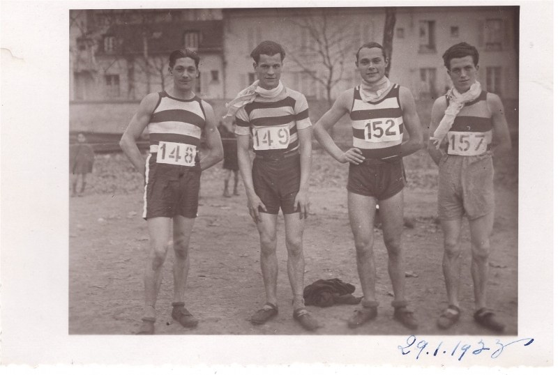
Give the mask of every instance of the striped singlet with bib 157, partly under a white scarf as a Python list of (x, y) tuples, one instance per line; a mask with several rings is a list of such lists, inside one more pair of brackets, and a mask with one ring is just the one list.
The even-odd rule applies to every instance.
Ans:
[[(448, 131), (446, 153), (449, 155), (480, 155), (492, 142), (492, 113), (486, 102), (486, 91), (472, 102), (465, 103)], [(449, 97), (446, 95), (446, 106)]]

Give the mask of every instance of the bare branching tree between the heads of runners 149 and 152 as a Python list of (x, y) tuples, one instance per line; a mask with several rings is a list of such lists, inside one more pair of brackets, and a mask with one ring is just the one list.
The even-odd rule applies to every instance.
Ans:
[[(294, 41), (296, 47), (289, 49), (289, 58), (315, 82), (324, 87), (329, 106), (333, 104), (332, 91), (342, 81), (343, 65), (359, 39), (345, 20), (319, 10), (315, 15), (294, 18), (292, 23), (301, 29), (303, 43)], [(293, 44), (294, 44), (293, 43)], [(287, 45), (288, 46), (288, 45)]]

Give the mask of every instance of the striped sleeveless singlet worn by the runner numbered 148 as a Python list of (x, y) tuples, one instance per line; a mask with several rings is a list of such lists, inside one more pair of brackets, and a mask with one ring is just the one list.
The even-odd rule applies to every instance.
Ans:
[[(156, 153), (160, 141), (186, 144), (199, 148), (199, 139), (205, 126), (202, 100), (172, 98), (165, 91), (159, 93), (159, 101), (147, 125), (150, 152)], [(196, 164), (198, 163), (196, 155)]]

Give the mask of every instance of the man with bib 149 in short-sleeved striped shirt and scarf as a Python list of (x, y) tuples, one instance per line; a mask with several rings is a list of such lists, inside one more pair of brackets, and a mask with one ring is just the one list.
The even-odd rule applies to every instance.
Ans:
[[(258, 81), (229, 103), (236, 116), (239, 167), (248, 196), (248, 210), (259, 231), (260, 265), (266, 303), (252, 315), (262, 324), (278, 314), (277, 216), (285, 218), (287, 274), (293, 293), (293, 317), (306, 330), (317, 321), (304, 305), (304, 254), (302, 236), (308, 215), (308, 185), (312, 163), (312, 130), (308, 102), (301, 93), (280, 82), (285, 50), (265, 41), (250, 54)], [(234, 103), (238, 109), (233, 110)], [(255, 159), (248, 153), (250, 135)]]

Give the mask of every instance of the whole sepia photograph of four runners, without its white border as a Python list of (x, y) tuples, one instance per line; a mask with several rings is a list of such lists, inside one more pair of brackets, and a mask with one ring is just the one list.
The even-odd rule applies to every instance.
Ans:
[(70, 335), (518, 335), (519, 6), (70, 10)]

